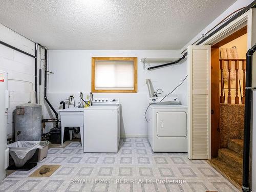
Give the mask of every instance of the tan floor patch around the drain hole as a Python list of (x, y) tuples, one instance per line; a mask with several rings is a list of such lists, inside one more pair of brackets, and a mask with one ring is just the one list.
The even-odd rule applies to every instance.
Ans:
[(42, 165), (29, 177), (50, 177), (59, 167), (60, 165)]

